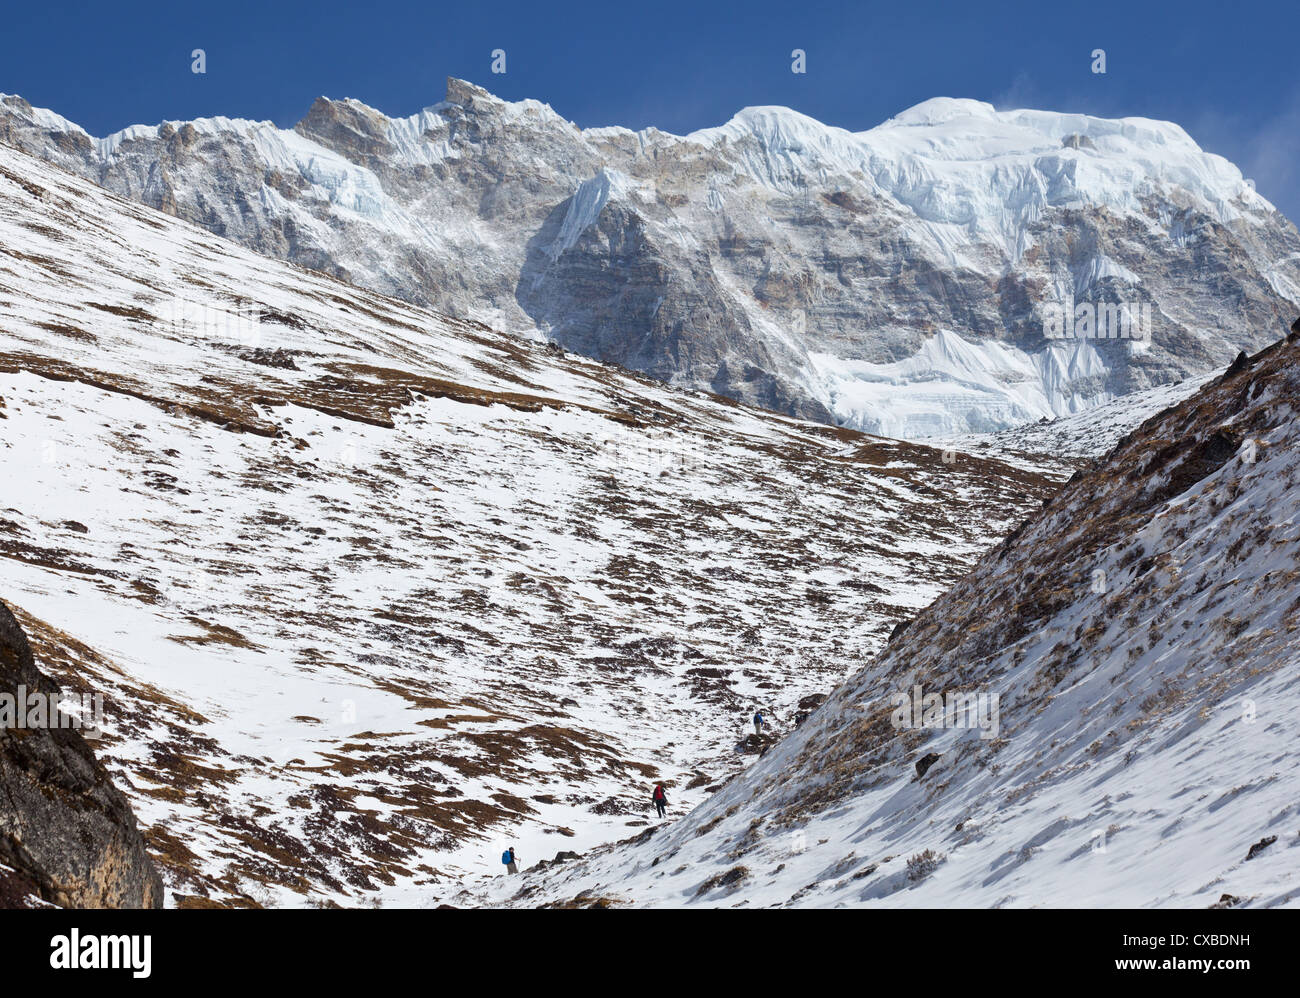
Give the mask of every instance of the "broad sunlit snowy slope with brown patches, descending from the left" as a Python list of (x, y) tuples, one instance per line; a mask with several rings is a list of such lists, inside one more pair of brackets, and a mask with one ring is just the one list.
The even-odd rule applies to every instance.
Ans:
[[(459, 261), (467, 273), (472, 266)], [(169, 903), (698, 803), (1054, 490), (270, 261), (0, 146), (0, 598)]]

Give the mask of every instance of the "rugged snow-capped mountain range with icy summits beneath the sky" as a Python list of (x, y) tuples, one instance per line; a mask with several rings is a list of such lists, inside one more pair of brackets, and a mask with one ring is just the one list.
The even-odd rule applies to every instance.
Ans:
[[(1176, 125), (936, 99), (849, 133), (746, 108), (578, 129), (463, 81), (408, 118), (318, 99), (0, 139), (261, 253), (598, 360), (896, 437), (987, 433), (1227, 364), (1300, 305), (1300, 235)], [(1045, 339), (1134, 303), (1141, 340)]]

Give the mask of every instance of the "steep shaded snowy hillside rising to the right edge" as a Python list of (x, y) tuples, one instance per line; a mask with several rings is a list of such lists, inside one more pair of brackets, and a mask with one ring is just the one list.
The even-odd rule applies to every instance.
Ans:
[(1292, 333), (1121, 441), (703, 807), (465, 897), (1296, 904), (1297, 407)]

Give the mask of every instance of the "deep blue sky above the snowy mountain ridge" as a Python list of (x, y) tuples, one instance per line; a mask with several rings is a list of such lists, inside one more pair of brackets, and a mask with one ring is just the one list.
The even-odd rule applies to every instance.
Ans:
[[(927, 97), (978, 97), (1176, 121), (1300, 220), (1297, 29), (1295, 0), (32, 3), (0, 23), (0, 91), (95, 135), (212, 114), (289, 126), (321, 94), (410, 114), (442, 99), (447, 75), (582, 126), (676, 133), (749, 104), (858, 130)], [(794, 48), (806, 74), (790, 71)]]

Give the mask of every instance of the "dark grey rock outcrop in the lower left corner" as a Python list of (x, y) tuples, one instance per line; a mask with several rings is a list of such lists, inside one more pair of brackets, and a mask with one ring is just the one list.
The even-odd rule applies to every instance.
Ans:
[[(57, 694), (0, 603), (0, 693)], [(162, 907), (135, 816), (79, 732), (0, 730), (0, 865), (62, 907)], [(12, 891), (17, 894), (17, 890)]]

